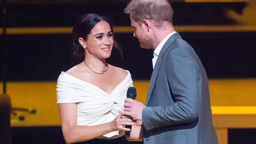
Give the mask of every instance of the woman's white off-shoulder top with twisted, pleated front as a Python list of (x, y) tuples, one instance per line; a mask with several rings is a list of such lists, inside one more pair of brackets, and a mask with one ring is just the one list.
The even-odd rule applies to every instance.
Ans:
[[(77, 125), (95, 126), (111, 122), (124, 110), (127, 89), (133, 86), (128, 70), (125, 79), (108, 94), (99, 87), (61, 72), (57, 81), (57, 103), (77, 104)], [(103, 137), (115, 139), (124, 131), (110, 132)]]

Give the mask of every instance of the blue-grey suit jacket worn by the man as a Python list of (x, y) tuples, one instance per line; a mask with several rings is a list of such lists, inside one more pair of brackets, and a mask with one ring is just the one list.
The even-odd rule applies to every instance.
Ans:
[(142, 111), (144, 144), (218, 144), (208, 78), (194, 49), (179, 33), (156, 60)]

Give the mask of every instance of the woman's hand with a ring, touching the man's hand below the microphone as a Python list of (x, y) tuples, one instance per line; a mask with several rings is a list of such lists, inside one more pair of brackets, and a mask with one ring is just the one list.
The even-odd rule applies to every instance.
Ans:
[(131, 129), (125, 128), (125, 125), (135, 125), (136, 120), (132, 119), (130, 116), (118, 115), (116, 118), (110, 122), (113, 131), (131, 131)]

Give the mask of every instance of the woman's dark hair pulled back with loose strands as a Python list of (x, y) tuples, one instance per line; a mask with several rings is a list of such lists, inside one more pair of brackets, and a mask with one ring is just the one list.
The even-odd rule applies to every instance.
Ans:
[[(108, 20), (107, 18), (100, 16), (98, 14), (88, 13), (88, 14), (85, 14), (77, 19), (75, 26), (72, 30), (73, 36), (75, 38), (73, 40), (73, 48), (75, 50), (74, 54), (76, 54), (78, 56), (83, 56), (83, 57), (85, 56), (84, 48), (78, 42), (78, 38), (82, 37), (84, 40), (87, 40), (88, 35), (90, 34), (92, 28), (94, 28), (94, 26), (102, 20), (108, 22), (108, 24), (110, 25), (111, 31), (113, 32), (113, 26), (112, 26), (110, 20)], [(116, 48), (120, 52), (121, 57), (123, 58), (123, 51), (122, 51), (120, 45), (115, 41), (114, 34), (113, 34), (113, 40), (114, 40), (113, 47)]]

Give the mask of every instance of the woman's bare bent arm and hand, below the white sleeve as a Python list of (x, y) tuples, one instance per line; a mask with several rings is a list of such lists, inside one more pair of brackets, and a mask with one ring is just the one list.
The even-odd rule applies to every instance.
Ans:
[(99, 124), (96, 126), (77, 125), (75, 103), (59, 104), (59, 112), (63, 136), (68, 144), (92, 140), (113, 131), (130, 131), (130, 129), (124, 128), (123, 125), (135, 124), (129, 118), (120, 119), (119, 116), (117, 116), (112, 122), (106, 124)]

